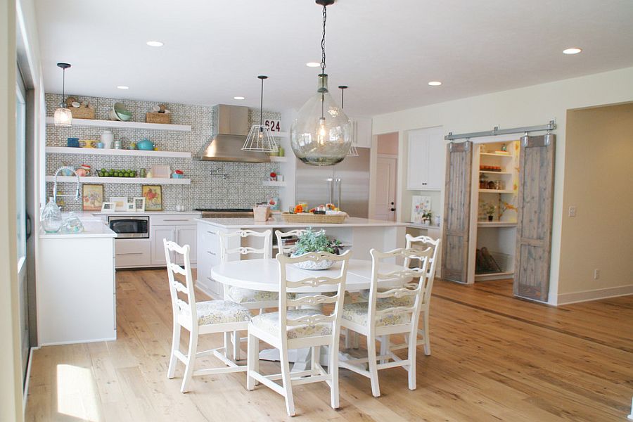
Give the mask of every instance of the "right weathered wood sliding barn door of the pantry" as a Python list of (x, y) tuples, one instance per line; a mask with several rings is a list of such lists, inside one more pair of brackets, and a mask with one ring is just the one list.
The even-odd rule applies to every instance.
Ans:
[(514, 294), (547, 302), (556, 136), (521, 138)]

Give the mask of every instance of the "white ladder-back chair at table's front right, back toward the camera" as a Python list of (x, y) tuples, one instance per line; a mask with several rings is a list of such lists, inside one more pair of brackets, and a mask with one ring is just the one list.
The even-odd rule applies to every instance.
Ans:
[[(402, 366), (409, 372), (409, 390), (416, 389), (416, 337), (418, 332), (418, 319), (422, 307), (426, 279), (428, 277), (428, 262), (433, 252), (430, 248), (424, 251), (401, 248), (390, 252), (370, 251), (371, 288), (369, 289), (369, 302), (348, 303), (343, 307), (341, 326), (356, 333), (366, 335), (367, 358), (350, 359), (340, 362), (345, 369), (357, 372), (371, 380), (371, 394), (374, 397), (381, 395), (378, 384), (378, 371), (381, 369)], [(416, 258), (421, 260), (421, 266), (416, 268), (403, 267), (397, 271), (381, 272), (382, 260), (393, 258)], [(388, 280), (410, 280), (420, 277), (417, 286), (403, 286), (378, 290), (378, 283)], [(381, 289), (382, 290), (382, 289)], [(397, 302), (402, 298), (409, 300), (405, 304)], [(393, 301), (392, 301), (393, 300)], [(407, 359), (400, 359), (392, 352), (376, 355), (376, 340), (381, 336), (392, 334), (404, 334), (409, 337), (409, 354)], [(376, 361), (380, 360), (378, 364)], [(389, 362), (389, 361), (392, 362)], [(369, 364), (369, 371), (358, 364)]]

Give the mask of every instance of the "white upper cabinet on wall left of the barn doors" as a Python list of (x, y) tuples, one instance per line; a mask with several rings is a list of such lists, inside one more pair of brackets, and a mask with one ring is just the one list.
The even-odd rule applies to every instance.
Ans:
[(407, 189), (410, 191), (442, 190), (445, 145), (441, 127), (409, 132)]

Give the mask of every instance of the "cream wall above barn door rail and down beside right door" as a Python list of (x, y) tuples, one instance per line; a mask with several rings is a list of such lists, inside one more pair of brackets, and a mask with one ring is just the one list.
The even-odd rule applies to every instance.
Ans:
[(566, 112), (570, 108), (632, 100), (633, 68), (625, 68), (378, 115), (373, 118), (373, 134), (400, 132), (402, 141), (404, 131), (424, 127), (443, 126), (446, 132), (459, 134), (490, 130), (494, 126), (503, 129), (556, 120), (554, 230), (549, 295), (549, 302), (556, 305), (563, 219)]

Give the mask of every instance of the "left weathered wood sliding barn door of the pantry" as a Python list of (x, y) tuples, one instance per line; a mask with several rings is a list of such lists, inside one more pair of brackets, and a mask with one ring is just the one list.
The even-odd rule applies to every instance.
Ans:
[(471, 141), (449, 143), (446, 158), (442, 278), (466, 283), (471, 214)]

